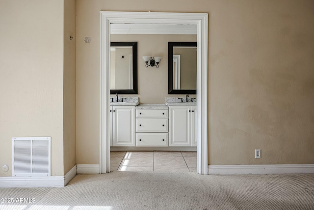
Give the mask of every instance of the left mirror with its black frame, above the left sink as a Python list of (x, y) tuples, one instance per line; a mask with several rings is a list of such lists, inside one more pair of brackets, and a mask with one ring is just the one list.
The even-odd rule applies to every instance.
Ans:
[(137, 94), (137, 42), (111, 42), (110, 94)]

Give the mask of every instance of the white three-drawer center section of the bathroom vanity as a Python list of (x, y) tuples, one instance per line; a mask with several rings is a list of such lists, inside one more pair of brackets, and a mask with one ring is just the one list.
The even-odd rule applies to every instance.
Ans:
[[(136, 147), (168, 147), (168, 107), (163, 109), (143, 109), (148, 105), (136, 108), (135, 146)], [(154, 106), (151, 106), (154, 107)]]

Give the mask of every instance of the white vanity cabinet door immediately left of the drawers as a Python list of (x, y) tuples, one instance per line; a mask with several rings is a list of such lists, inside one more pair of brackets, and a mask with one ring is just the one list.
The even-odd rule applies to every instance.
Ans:
[(113, 106), (112, 146), (135, 146), (135, 107)]

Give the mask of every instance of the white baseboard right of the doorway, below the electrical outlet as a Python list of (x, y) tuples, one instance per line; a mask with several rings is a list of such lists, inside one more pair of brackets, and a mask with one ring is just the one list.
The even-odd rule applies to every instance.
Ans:
[(211, 175), (314, 174), (314, 164), (209, 165)]

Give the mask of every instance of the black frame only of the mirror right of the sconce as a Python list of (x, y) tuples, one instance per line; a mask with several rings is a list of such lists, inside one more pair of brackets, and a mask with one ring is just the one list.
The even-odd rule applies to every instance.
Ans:
[(196, 94), (196, 90), (173, 90), (173, 47), (196, 46), (196, 42), (168, 42), (168, 94)]

